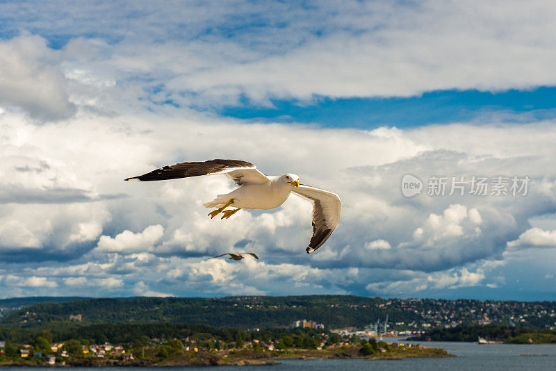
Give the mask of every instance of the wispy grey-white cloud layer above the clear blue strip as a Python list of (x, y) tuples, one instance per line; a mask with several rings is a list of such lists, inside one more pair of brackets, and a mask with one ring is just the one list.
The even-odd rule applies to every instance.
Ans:
[[(545, 0), (512, 7), (346, 1), (309, 8), (274, 1), (163, 7), (133, 1), (111, 12), (81, 5), (62, 15), (48, 3), (33, 3), (40, 17), (29, 17), (31, 6), (0, 6), (8, 14), (6, 30), (43, 35), (3, 42), (5, 104), (61, 118), (73, 115), (74, 106), (113, 114), (138, 101), (150, 108), (206, 108), (239, 105), (247, 97), (272, 106), (276, 98), (405, 97), (556, 83), (556, 40), (546, 17), (555, 9)], [(63, 49), (48, 48), (44, 38)], [(63, 67), (50, 61), (56, 58)], [(26, 91), (29, 83), (38, 88)], [(11, 93), (1, 94), (2, 87)]]

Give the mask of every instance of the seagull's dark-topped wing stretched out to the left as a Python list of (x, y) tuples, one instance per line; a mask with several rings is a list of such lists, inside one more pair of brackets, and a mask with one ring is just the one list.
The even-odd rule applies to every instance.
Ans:
[(268, 179), (256, 170), (252, 163), (242, 160), (208, 160), (198, 163), (177, 163), (153, 170), (147, 174), (133, 176), (126, 181), (164, 181), (167, 179), (188, 178), (190, 176), (226, 174), (238, 186), (243, 184), (264, 184)]

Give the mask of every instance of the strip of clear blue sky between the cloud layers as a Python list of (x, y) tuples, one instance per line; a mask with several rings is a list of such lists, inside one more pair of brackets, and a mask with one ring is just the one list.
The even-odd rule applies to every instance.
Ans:
[[(535, 122), (554, 118), (556, 88), (481, 92), (436, 90), (416, 97), (338, 98), (314, 97), (311, 101), (272, 100), (270, 106), (254, 106), (243, 99), (237, 106), (217, 112), (263, 122), (303, 122), (329, 127), (376, 129), (408, 128), (429, 124), (469, 122), (498, 116), (500, 122)], [(505, 113), (505, 115), (500, 115)]]

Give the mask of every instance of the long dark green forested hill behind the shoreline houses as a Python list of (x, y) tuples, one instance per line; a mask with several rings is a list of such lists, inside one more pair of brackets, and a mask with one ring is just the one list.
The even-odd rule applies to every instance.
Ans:
[(362, 327), (386, 315), (394, 322), (420, 320), (416, 313), (381, 308), (384, 302), (380, 298), (345, 295), (82, 299), (34, 304), (7, 315), (0, 324), (3, 327), (44, 327), (49, 322), (67, 322), (70, 315), (81, 315), (83, 324), (168, 322), (243, 329), (284, 327), (300, 319), (313, 320), (328, 328)]

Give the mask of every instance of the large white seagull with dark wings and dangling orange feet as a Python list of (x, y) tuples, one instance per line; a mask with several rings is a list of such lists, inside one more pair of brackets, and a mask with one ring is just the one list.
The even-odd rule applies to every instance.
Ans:
[[(313, 236), (307, 254), (314, 252), (330, 237), (340, 221), (342, 203), (338, 195), (327, 190), (300, 184), (295, 174), (266, 176), (256, 170), (252, 163), (242, 160), (208, 160), (199, 163), (177, 163), (153, 170), (147, 174), (128, 178), (126, 181), (163, 181), (166, 179), (188, 178), (190, 176), (226, 174), (240, 188), (226, 195), (218, 195), (213, 201), (203, 204), (206, 208), (217, 208), (208, 213), (211, 218), (223, 213), (222, 219), (229, 218), (242, 208), (277, 208), (288, 199), (290, 193), (303, 197), (313, 204)], [(235, 210), (226, 210), (228, 206)]]

